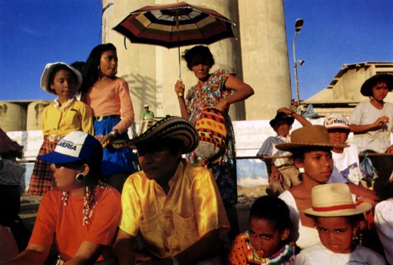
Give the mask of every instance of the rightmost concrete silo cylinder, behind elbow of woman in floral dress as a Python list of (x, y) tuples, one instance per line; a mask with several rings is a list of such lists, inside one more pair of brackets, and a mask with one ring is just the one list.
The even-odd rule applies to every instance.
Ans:
[(283, 0), (240, 0), (243, 77), (255, 90), (247, 120), (271, 119), (291, 101)]

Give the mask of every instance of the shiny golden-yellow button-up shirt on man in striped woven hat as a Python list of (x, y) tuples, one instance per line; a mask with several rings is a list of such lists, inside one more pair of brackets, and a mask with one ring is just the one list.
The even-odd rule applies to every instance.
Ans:
[(206, 233), (229, 222), (210, 170), (182, 160), (169, 180), (169, 193), (149, 180), (143, 171), (124, 183), (120, 228), (137, 237), (142, 233), (149, 251), (158, 257), (173, 257)]

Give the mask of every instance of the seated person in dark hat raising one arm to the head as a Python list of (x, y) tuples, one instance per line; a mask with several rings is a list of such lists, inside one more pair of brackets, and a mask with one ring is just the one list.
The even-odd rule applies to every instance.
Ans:
[[(293, 122), (298, 120), (303, 126), (309, 126), (311, 123), (306, 118), (298, 115), (296, 112), (288, 108), (280, 108), (273, 120), (270, 120), (270, 126), (277, 133), (276, 136), (268, 137), (259, 149), (257, 156), (275, 155), (285, 156), (291, 155), (290, 152), (278, 150), (276, 145), (289, 143), (289, 131), (292, 128)], [(299, 170), (294, 166), (292, 157), (266, 159), (266, 168), (270, 170), (269, 186), (266, 192), (269, 195), (278, 196), (290, 187), (300, 183)]]

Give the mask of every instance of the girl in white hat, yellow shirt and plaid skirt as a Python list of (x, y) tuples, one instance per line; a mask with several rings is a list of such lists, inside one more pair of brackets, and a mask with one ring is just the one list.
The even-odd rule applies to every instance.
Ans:
[[(45, 66), (41, 76), (41, 88), (57, 95), (57, 98), (42, 112), (44, 142), (38, 156), (53, 151), (58, 141), (72, 131), (84, 131), (94, 135), (90, 108), (75, 98), (81, 84), (82, 75), (75, 68), (61, 62)], [(52, 189), (52, 185), (50, 165), (36, 159), (28, 193), (43, 195)]]

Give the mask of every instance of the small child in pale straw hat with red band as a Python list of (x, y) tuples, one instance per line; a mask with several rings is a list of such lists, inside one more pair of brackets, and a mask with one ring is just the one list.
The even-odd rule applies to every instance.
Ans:
[(355, 204), (343, 183), (316, 186), (311, 196), (312, 207), (302, 212), (314, 219), (321, 242), (302, 250), (295, 265), (386, 264), (381, 255), (354, 242), (369, 203)]

